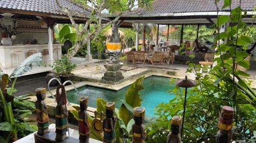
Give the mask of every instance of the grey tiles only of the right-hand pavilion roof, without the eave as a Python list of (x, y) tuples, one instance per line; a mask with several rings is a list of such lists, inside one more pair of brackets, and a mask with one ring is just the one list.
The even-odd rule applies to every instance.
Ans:
[[(233, 0), (231, 8), (239, 6), (240, 0)], [(219, 9), (223, 6), (223, 0), (218, 3)], [(252, 11), (256, 6), (255, 0), (242, 0), (241, 8), (246, 11)], [(165, 13), (189, 13), (189, 12), (216, 12), (217, 8), (214, 0), (155, 0), (152, 3), (152, 10), (138, 8), (130, 14), (165, 14)], [(221, 11), (228, 11), (225, 8)]]

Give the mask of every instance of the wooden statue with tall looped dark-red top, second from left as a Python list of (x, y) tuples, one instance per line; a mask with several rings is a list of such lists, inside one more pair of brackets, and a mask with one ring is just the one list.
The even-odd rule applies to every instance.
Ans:
[[(61, 89), (61, 93), (59, 90)], [(68, 110), (67, 110), (67, 98), (64, 85), (59, 85), (56, 91), (57, 106), (55, 109), (55, 120), (56, 120), (56, 141), (63, 141), (68, 136)]]

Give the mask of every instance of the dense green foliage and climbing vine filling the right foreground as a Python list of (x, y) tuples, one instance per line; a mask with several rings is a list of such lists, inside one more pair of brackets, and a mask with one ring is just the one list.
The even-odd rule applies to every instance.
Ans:
[[(216, 2), (216, 6), (218, 2)], [(250, 56), (245, 50), (251, 40), (246, 34), (238, 34), (239, 30), (246, 26), (242, 22), (242, 9), (240, 7), (231, 10), (230, 1), (224, 1), (223, 9), (230, 8), (230, 16), (218, 16), (216, 27), (220, 27), (228, 21), (231, 22), (227, 31), (220, 33), (216, 29), (215, 42), (216, 66), (207, 74), (200, 73), (200, 69), (207, 70), (208, 66), (193, 63), (194, 54), (189, 55), (190, 68), (186, 72), (194, 73), (197, 85), (188, 91), (185, 122), (182, 136), (183, 142), (216, 142), (215, 135), (218, 129), (218, 119), (221, 106), (228, 105), (234, 108), (234, 127), (232, 141), (255, 142), (256, 130), (256, 94), (250, 87), (248, 73), (237, 69), (240, 65), (249, 69), (249, 62), (244, 59)], [(236, 23), (233, 25), (232, 23)], [(242, 32), (242, 31), (241, 31)], [(228, 39), (226, 43), (220, 44), (222, 39)], [(182, 44), (181, 50), (184, 50)], [(189, 48), (191, 49), (191, 48)], [(184, 52), (182, 52), (184, 54)], [(175, 79), (172, 83), (175, 83)], [(163, 142), (170, 131), (169, 119), (175, 115), (182, 115), (185, 90), (176, 87), (172, 91), (175, 98), (169, 103), (157, 106), (156, 123), (148, 126), (149, 142)]]

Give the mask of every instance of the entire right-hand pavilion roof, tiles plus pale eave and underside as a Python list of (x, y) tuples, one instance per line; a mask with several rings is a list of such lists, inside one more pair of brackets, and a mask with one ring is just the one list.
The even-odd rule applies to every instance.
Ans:
[[(239, 6), (240, 0), (232, 0), (231, 9)], [(222, 10), (224, 0), (218, 2), (219, 13), (215, 5), (215, 0), (155, 0), (151, 9), (137, 8), (130, 12), (125, 12), (121, 20), (131, 23), (154, 23), (154, 24), (214, 24), (217, 15), (230, 15), (228, 8)], [(251, 16), (256, 6), (255, 0), (241, 0), (243, 19), (247, 24), (256, 24)], [(107, 16), (110, 19), (116, 15)]]

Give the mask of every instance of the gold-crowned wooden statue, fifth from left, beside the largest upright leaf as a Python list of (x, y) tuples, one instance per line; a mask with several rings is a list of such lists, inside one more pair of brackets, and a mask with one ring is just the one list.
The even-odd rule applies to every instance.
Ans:
[(132, 126), (131, 134), (133, 143), (145, 143), (146, 133), (142, 122), (145, 118), (145, 108), (135, 107), (133, 110), (135, 124)]

